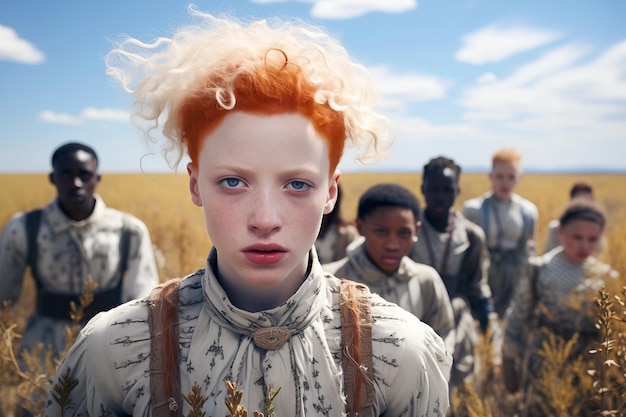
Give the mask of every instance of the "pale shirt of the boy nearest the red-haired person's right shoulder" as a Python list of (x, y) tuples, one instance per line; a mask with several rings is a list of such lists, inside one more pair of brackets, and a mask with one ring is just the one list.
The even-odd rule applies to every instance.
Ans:
[(405, 256), (393, 275), (382, 272), (367, 256), (365, 242), (341, 261), (323, 266), (337, 277), (366, 284), (370, 291), (414, 314), (445, 340), (454, 352), (454, 313), (448, 291), (434, 268)]

